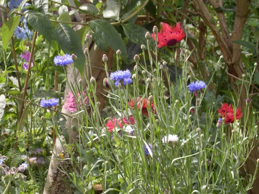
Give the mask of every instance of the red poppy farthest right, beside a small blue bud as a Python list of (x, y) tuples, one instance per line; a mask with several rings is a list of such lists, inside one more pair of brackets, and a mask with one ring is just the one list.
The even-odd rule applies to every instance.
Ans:
[[(225, 123), (233, 123), (235, 121), (234, 110), (231, 104), (223, 103), (221, 109), (218, 109), (222, 118), (225, 118)], [(240, 119), (243, 116), (241, 108), (236, 110), (236, 119)]]

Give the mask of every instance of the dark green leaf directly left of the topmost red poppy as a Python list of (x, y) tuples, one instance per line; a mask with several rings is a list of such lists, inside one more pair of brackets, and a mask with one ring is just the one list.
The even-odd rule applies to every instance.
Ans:
[(147, 47), (145, 38), (147, 29), (134, 23), (123, 24), (123, 29), (129, 40), (139, 45), (144, 44)]

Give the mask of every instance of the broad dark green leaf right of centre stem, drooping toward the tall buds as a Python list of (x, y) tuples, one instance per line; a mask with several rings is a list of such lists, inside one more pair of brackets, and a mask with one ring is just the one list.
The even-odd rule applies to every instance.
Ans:
[(88, 23), (93, 33), (97, 46), (107, 51), (110, 46), (114, 51), (121, 50), (122, 57), (127, 58), (127, 49), (121, 34), (116, 31), (112, 24), (103, 19), (95, 19)]

